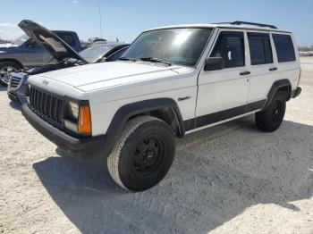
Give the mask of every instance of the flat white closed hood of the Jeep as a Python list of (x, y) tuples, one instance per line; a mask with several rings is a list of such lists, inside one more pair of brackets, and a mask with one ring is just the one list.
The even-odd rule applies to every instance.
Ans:
[(42, 79), (55, 80), (88, 92), (99, 88), (110, 88), (148, 79), (173, 76), (181, 71), (193, 71), (193, 69), (176, 65), (160, 66), (153, 63), (120, 61), (94, 63), (58, 71), (49, 71), (37, 75), (40, 77), (37, 80), (35, 79), (37, 76), (34, 76), (33, 80), (34, 84)]

